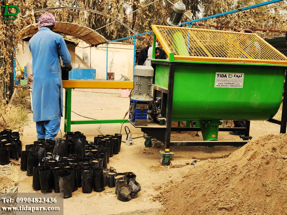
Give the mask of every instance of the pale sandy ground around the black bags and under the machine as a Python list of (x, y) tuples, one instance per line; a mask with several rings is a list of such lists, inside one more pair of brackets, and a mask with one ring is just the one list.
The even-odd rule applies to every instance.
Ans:
[[(85, 92), (90, 91), (90, 92)], [(95, 93), (102, 92), (102, 93)], [(117, 89), (77, 89), (72, 91), (72, 111), (77, 114), (88, 116), (95, 119), (121, 119), (129, 107), (129, 98), (121, 98)], [(64, 94), (65, 95), (65, 94)], [(65, 105), (65, 104), (64, 104)], [(87, 120), (74, 113), (72, 120)], [(32, 122), (30, 114), (29, 125), (24, 127), (22, 143), (23, 150), (26, 144), (32, 144), (36, 140), (36, 126)], [(133, 137), (142, 136), (140, 129), (129, 126)], [(87, 140), (94, 140), (94, 136), (99, 135), (99, 124), (91, 125), (72, 125), (71, 131), (81, 131), (87, 136)], [(279, 134), (280, 126), (269, 122), (251, 122), (250, 135), (253, 138), (266, 134)], [(102, 124), (100, 132), (103, 134), (119, 133), (121, 124)], [(64, 134), (63, 118), (61, 122), (62, 136)], [(61, 137), (59, 132), (57, 137)], [(124, 126), (121, 131), (125, 137)], [(173, 133), (172, 140), (202, 140), (195, 136), (196, 132)], [(219, 132), (219, 140), (239, 140), (238, 136), (232, 136), (228, 132)], [(64, 199), (64, 214), (78, 215), (108, 215), (108, 214), (158, 214), (161, 209), (159, 202), (152, 201), (152, 196), (158, 193), (158, 190), (166, 181), (175, 180), (182, 177), (191, 168), (192, 165), (186, 165), (186, 162), (192, 162), (194, 159), (201, 160), (196, 165), (202, 165), (208, 159), (227, 157), (234, 150), (238, 149), (232, 146), (217, 146), (214, 148), (206, 147), (172, 147), (175, 153), (171, 159), (172, 165), (165, 167), (160, 165), (160, 148), (146, 148), (144, 138), (134, 139), (133, 146), (127, 146), (122, 143), (121, 151), (118, 155), (110, 158), (108, 166), (117, 169), (117, 172), (134, 172), (137, 175), (136, 180), (141, 184), (142, 190), (138, 198), (129, 202), (121, 202), (116, 197), (111, 196), (110, 191), (114, 188), (108, 188), (101, 192), (92, 192), (90, 194), (82, 193), (82, 188), (73, 192), (72, 198)], [(20, 172), (18, 192), (38, 192), (32, 189), (32, 177), (26, 176), (26, 172)], [(105, 193), (108, 192), (108, 193)], [(160, 212), (162, 213), (162, 212)]]

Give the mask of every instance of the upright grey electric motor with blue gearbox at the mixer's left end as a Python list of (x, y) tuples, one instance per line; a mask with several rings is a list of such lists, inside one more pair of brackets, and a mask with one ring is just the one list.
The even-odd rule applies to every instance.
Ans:
[(148, 125), (149, 103), (152, 99), (152, 78), (154, 69), (151, 66), (135, 66), (133, 96), (130, 104), (130, 118), (134, 125)]

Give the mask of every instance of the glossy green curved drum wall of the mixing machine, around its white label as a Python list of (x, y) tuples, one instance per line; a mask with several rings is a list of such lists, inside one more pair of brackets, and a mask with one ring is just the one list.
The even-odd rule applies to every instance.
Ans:
[[(244, 73), (243, 88), (214, 87), (216, 72)], [(172, 120), (268, 120), (281, 104), (284, 73), (264, 66), (175, 66)]]

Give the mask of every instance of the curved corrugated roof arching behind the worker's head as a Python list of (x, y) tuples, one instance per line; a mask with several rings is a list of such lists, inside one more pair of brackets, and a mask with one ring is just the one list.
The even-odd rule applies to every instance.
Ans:
[[(53, 31), (75, 36), (90, 45), (99, 45), (107, 42), (106, 38), (91, 28), (69, 22), (56, 22)], [(22, 30), (22, 36), (26, 37), (30, 34), (35, 34), (36, 32), (38, 32), (38, 23), (31, 24), (24, 28)]]

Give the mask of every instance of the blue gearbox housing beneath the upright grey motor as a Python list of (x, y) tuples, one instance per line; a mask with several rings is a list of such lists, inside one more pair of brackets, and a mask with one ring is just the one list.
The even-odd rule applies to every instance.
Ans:
[(130, 119), (134, 125), (148, 125), (148, 110), (150, 101), (131, 99)]

